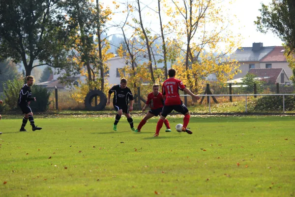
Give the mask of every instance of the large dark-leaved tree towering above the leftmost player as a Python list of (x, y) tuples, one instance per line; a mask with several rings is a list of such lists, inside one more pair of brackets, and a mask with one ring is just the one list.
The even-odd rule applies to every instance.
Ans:
[(0, 0), (0, 60), (22, 62), (26, 76), (37, 66), (59, 66), (64, 59), (61, 46), (70, 32), (60, 1)]

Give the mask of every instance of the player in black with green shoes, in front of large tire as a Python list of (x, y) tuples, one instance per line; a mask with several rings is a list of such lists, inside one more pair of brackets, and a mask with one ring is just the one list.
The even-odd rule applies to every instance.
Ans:
[[(127, 79), (122, 78), (120, 81), (120, 85), (113, 86), (109, 90), (107, 105), (110, 105), (111, 95), (112, 93), (114, 93), (113, 105), (115, 110), (117, 111), (115, 123), (113, 126), (114, 131), (117, 131), (117, 124), (123, 113), (126, 116), (128, 123), (130, 124), (131, 130), (135, 131), (133, 126), (133, 119), (131, 118), (129, 113), (130, 111), (133, 110), (133, 95), (131, 90), (126, 86), (126, 84), (127, 84)], [(128, 99), (130, 101), (129, 107), (128, 107)]]

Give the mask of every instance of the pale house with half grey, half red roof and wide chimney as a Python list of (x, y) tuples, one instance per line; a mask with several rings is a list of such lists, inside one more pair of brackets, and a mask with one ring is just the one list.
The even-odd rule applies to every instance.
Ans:
[(239, 62), (238, 72), (235, 70), (236, 75), (234, 80), (244, 77), (251, 69), (269, 69), (269, 68), (283, 68), (286, 76), (284, 81), (289, 80), (293, 75), (291, 68), (288, 66), (284, 56), (283, 46), (263, 46), (263, 43), (253, 43), (252, 47), (242, 47), (237, 49), (236, 52), (230, 57)]

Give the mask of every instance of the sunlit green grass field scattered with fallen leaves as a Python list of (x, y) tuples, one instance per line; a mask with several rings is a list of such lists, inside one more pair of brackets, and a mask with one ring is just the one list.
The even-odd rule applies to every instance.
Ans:
[(133, 133), (125, 118), (115, 132), (113, 116), (35, 116), (43, 130), (19, 132), (4, 116), (0, 196), (295, 196), (293, 116), (191, 117), (192, 135), (153, 138), (157, 120)]

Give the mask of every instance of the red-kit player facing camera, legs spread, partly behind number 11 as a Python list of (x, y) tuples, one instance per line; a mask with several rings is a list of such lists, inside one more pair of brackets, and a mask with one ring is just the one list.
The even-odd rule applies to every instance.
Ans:
[[(139, 123), (137, 130), (135, 130), (134, 132), (140, 132), (140, 130), (146, 124), (148, 119), (158, 115), (161, 116), (162, 109), (164, 106), (164, 99), (163, 95), (159, 92), (159, 84), (154, 84), (152, 86), (152, 92), (148, 94), (148, 100), (143, 108), (143, 111), (146, 110), (147, 106), (150, 107), (150, 110), (148, 111), (144, 119), (142, 119), (142, 121)], [(167, 128), (166, 132), (171, 132), (169, 122), (167, 119), (164, 120), (164, 124)]]

